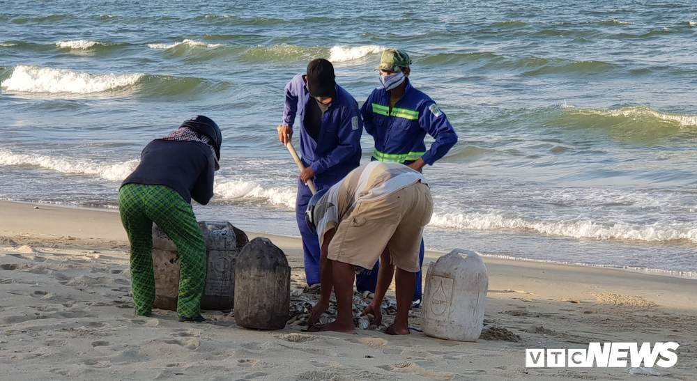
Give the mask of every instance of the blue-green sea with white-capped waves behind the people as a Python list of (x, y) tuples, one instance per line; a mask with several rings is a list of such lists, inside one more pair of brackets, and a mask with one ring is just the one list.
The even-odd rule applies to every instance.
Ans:
[(0, 1), (0, 198), (117, 208), (146, 143), (204, 114), (199, 218), (298, 235), (284, 85), (323, 57), (362, 104), (384, 47), (459, 134), (424, 169), (427, 247), (697, 273), (690, 1)]

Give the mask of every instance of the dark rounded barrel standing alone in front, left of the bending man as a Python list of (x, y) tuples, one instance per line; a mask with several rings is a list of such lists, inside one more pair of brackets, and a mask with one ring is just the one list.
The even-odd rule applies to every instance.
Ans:
[(253, 329), (282, 329), (290, 310), (291, 267), (266, 238), (245, 245), (235, 267), (235, 321)]

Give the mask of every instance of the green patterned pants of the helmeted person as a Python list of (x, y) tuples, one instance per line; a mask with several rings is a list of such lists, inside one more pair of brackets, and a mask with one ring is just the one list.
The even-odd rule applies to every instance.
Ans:
[(176, 313), (196, 318), (206, 283), (206, 242), (191, 204), (163, 185), (127, 184), (118, 192), (118, 208), (131, 244), (130, 270), (135, 312), (148, 316), (155, 302), (153, 222), (179, 251), (179, 296)]

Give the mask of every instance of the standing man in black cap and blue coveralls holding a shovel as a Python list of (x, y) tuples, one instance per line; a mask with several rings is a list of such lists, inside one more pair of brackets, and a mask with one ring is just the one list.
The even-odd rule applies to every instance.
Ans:
[(334, 66), (325, 59), (307, 65), (286, 85), (283, 123), (278, 138), (284, 145), (293, 137), (293, 122), (300, 116), (300, 153), (305, 171), (298, 179), (296, 219), (305, 251), (307, 284), (320, 283), (321, 251), (317, 235), (305, 223), (305, 210), (312, 197), (307, 181), (317, 190), (329, 189), (360, 164), (363, 122), (358, 102), (336, 84)]

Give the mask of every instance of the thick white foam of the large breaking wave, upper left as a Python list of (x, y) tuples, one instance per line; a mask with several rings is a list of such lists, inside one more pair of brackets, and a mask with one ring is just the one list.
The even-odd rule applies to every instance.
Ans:
[(91, 75), (72, 70), (40, 68), (20, 65), (13, 70), (10, 78), (0, 84), (6, 91), (27, 93), (99, 93), (122, 86), (130, 86), (139, 81), (144, 74)]

